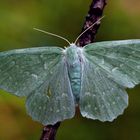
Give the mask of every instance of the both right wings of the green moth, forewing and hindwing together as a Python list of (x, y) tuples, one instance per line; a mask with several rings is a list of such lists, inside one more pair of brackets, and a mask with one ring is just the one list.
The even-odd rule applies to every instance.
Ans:
[(112, 121), (128, 105), (125, 88), (140, 83), (140, 40), (106, 41), (83, 48), (80, 110)]

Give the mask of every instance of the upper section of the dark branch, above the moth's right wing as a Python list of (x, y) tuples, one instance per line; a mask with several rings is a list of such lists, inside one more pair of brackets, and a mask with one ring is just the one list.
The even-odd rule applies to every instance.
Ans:
[[(102, 17), (104, 7), (107, 3), (106, 1), (107, 0), (93, 0), (92, 1), (88, 15), (86, 16), (86, 19), (85, 19), (84, 26), (82, 28), (82, 32)], [(88, 30), (79, 38), (77, 45), (85, 46), (89, 43), (94, 42), (95, 35), (97, 34), (99, 27), (100, 27), (100, 22), (97, 22), (97, 24), (95, 24), (93, 28)]]

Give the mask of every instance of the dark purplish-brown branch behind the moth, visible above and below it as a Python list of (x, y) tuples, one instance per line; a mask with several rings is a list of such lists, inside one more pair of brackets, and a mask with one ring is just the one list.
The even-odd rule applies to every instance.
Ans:
[[(106, 0), (94, 0), (91, 3), (82, 31), (84, 31), (90, 25), (95, 23), (99, 18), (101, 18), (105, 5), (106, 5)], [(89, 31), (83, 34), (79, 38), (77, 44), (79, 46), (84, 46), (88, 43), (93, 42), (99, 27), (100, 27), (100, 22), (95, 24), (93, 28), (91, 28)], [(59, 126), (60, 126), (60, 122), (56, 123), (55, 125), (44, 126), (43, 133), (40, 140), (55, 140), (56, 132)]]

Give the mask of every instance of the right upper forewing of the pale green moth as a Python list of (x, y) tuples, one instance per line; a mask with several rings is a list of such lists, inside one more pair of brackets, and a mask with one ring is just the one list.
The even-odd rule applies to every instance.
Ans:
[(140, 83), (140, 40), (105, 41), (85, 46), (85, 54), (121, 86)]

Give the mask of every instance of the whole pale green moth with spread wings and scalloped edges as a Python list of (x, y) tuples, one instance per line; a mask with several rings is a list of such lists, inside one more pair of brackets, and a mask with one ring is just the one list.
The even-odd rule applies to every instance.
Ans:
[(128, 106), (125, 89), (140, 83), (140, 40), (67, 42), (0, 52), (0, 89), (27, 97), (28, 114), (44, 125), (74, 117), (76, 106), (83, 117), (113, 121)]

